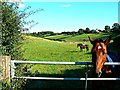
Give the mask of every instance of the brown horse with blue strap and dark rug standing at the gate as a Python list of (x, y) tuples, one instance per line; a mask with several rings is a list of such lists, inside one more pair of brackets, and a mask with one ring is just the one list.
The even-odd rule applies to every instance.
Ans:
[[(90, 37), (89, 41), (93, 45), (92, 53), (92, 62), (93, 62), (93, 75), (94, 77), (102, 78), (115, 78), (120, 77), (120, 68), (119, 66), (114, 65), (104, 65), (105, 62), (119, 62), (118, 55), (108, 50), (107, 45), (109, 44), (111, 37), (108, 37), (105, 41), (100, 38), (92, 39)], [(103, 87), (106, 87), (105, 90), (111, 90), (115, 81), (93, 81), (94, 89), (102, 90)], [(112, 84), (112, 85), (111, 85)], [(100, 89), (102, 87), (102, 89)]]

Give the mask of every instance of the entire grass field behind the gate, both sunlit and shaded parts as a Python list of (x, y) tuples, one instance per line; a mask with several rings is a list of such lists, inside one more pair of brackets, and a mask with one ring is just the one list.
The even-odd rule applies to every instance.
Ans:
[[(61, 62), (86, 62), (91, 61), (90, 50), (92, 45), (88, 41), (88, 36), (92, 38), (107, 36), (101, 34), (83, 34), (83, 35), (56, 35), (46, 37), (47, 39), (26, 36), (23, 45), (24, 58), (32, 61), (61, 61)], [(48, 40), (64, 39), (65, 42)], [(83, 41), (86, 39), (86, 42)], [(77, 43), (82, 42), (89, 45), (90, 50), (80, 52)], [(32, 65), (30, 72), (38, 73), (37, 76), (52, 77), (85, 77), (85, 68), (82, 65)], [(91, 73), (91, 72), (90, 72)], [(89, 75), (91, 77), (91, 74)], [(42, 84), (41, 84), (42, 83)], [(84, 81), (39, 81), (30, 80), (27, 83), (28, 90), (33, 88), (84, 88)], [(89, 87), (91, 83), (88, 83)], [(27, 89), (26, 89), (27, 90)]]

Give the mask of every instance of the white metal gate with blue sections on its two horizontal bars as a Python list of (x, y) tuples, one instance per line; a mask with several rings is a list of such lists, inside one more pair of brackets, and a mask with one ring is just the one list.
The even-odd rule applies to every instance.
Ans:
[[(62, 64), (62, 65), (91, 65), (92, 62), (51, 62), (51, 61), (22, 61), (22, 60), (11, 60), (11, 63), (23, 63), (23, 64)], [(120, 65), (120, 62), (105, 62), (104, 65)], [(14, 76), (14, 65), (12, 65), (11, 69), (13, 69), (12, 78), (13, 79), (40, 79), (40, 80), (86, 80), (86, 78), (57, 78), (57, 77), (26, 77)], [(87, 78), (87, 80), (120, 80), (120, 78)]]

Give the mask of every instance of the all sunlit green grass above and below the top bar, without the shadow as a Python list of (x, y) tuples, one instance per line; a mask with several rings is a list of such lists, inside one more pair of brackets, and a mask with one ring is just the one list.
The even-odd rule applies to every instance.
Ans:
[[(67, 42), (47, 40), (32, 36), (26, 36), (23, 48), (24, 58), (33, 61), (60, 61), (60, 62), (86, 62), (91, 61), (91, 47), (88, 36), (92, 38), (104, 37), (105, 34), (83, 34), (83, 35), (56, 35), (47, 38), (64, 38)], [(84, 42), (83, 39), (87, 41)], [(81, 52), (77, 43), (82, 42), (89, 45), (90, 50)], [(81, 65), (34, 65), (31, 70), (34, 73), (38, 70), (41, 73), (62, 74), (65, 70), (82, 68)]]

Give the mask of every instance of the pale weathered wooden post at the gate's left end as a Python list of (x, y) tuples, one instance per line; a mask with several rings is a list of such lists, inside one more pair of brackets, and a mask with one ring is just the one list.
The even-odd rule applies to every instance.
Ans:
[(1, 80), (8, 80), (10, 82), (10, 56), (0, 56)]

